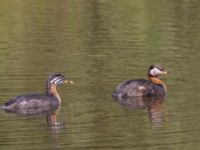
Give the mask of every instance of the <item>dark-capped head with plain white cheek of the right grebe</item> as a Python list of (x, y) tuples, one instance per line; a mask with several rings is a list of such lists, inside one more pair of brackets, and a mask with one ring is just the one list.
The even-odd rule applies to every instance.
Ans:
[(161, 65), (151, 65), (148, 70), (148, 76), (150, 77), (157, 77), (161, 74), (167, 74), (167, 71)]

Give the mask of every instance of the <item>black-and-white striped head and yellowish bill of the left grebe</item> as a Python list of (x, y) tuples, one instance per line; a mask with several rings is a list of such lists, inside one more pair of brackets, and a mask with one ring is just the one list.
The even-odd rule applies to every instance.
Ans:
[(48, 84), (60, 85), (64, 83), (73, 84), (73, 81), (66, 79), (65, 76), (61, 73), (52, 73), (48, 76)]

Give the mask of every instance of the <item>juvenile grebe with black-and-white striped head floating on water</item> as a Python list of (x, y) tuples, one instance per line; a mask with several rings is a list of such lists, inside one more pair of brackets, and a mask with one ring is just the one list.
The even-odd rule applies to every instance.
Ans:
[(46, 94), (19, 95), (6, 102), (1, 108), (8, 112), (17, 112), (23, 109), (60, 105), (61, 98), (56, 86), (64, 83), (72, 84), (73, 82), (60, 73), (50, 74), (46, 82)]

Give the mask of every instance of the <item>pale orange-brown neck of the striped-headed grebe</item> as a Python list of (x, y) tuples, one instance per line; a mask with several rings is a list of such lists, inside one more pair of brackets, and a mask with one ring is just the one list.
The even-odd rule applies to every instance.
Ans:
[(56, 85), (47, 83), (46, 94), (52, 95), (58, 99), (59, 104), (61, 104), (60, 95), (57, 92)]

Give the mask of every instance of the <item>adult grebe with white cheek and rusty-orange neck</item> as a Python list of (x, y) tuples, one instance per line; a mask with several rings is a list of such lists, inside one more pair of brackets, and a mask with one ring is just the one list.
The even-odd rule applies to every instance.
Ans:
[(159, 75), (167, 74), (167, 71), (161, 65), (151, 65), (147, 75), (149, 80), (138, 79), (128, 80), (119, 84), (112, 93), (113, 98), (121, 99), (136, 96), (165, 96), (166, 85), (159, 79)]

